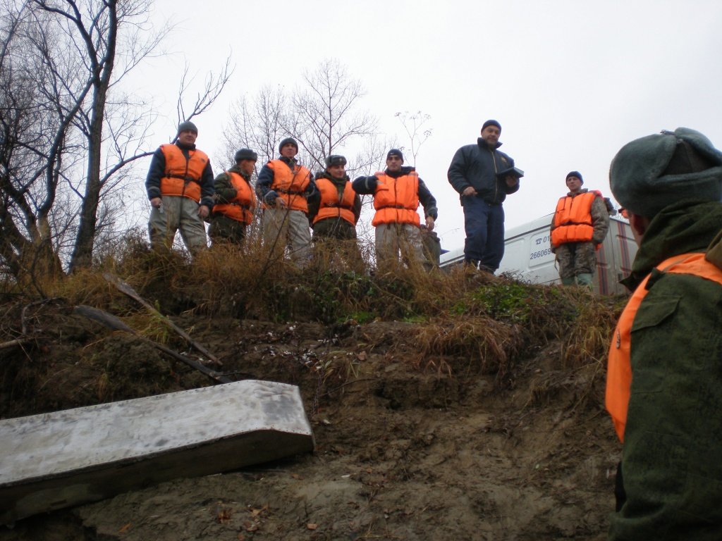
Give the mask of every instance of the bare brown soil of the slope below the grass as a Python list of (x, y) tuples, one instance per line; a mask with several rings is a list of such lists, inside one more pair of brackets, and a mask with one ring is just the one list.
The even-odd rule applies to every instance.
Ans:
[[(0, 352), (4, 418), (209, 384), (62, 303), (32, 321), (35, 343)], [(606, 537), (619, 447), (599, 364), (562, 370), (550, 343), (500, 382), (478, 359), (419, 359), (412, 324), (175, 321), (232, 377), (298, 384), (316, 452), (30, 517), (0, 541)]]

